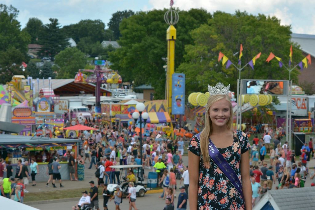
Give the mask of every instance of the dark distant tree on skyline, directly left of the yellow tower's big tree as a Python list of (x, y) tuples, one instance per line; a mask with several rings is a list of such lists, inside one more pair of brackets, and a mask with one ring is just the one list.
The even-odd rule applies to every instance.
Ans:
[(112, 14), (112, 18), (109, 20), (109, 23), (107, 24), (107, 26), (109, 30), (113, 31), (114, 40), (117, 40), (119, 39), (119, 37), (121, 37), (120, 31), (119, 31), (119, 24), (121, 23), (121, 21), (124, 18), (129, 18), (130, 16), (134, 14), (135, 12), (132, 10), (117, 11), (114, 14)]

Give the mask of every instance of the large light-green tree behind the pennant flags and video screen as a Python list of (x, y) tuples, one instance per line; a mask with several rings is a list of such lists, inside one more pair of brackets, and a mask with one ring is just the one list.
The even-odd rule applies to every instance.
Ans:
[[(234, 64), (238, 63), (239, 47), (243, 45), (242, 66), (248, 63), (256, 54), (261, 57), (256, 61), (255, 70), (247, 66), (241, 72), (241, 78), (249, 79), (288, 79), (289, 73), (280, 68), (277, 60), (265, 62), (270, 52), (283, 58), (288, 64), (290, 41), (290, 26), (280, 26), (276, 17), (266, 17), (259, 14), (249, 15), (236, 11), (235, 14), (215, 12), (207, 24), (191, 31), (194, 43), (185, 46), (185, 62), (181, 63), (177, 72), (186, 74), (186, 94), (191, 92), (206, 92), (208, 84), (221, 81), (231, 84), (231, 90), (236, 90), (238, 70), (232, 65), (226, 69), (222, 62), (218, 63), (221, 51)], [(294, 45), (293, 61), (302, 59), (301, 50)], [(293, 63), (294, 63), (293, 62)], [(298, 69), (292, 71), (291, 78), (297, 82)], [(206, 78), (206, 79), (205, 79)]]

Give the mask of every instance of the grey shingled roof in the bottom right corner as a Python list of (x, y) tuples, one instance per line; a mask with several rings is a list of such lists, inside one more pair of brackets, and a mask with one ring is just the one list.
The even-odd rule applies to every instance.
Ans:
[(254, 207), (254, 210), (302, 210), (315, 209), (315, 187), (284, 190), (269, 190)]

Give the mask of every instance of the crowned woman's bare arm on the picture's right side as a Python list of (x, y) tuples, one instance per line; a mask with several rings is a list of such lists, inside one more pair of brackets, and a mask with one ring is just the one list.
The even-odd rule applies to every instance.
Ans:
[(249, 150), (241, 156), (241, 175), (246, 210), (252, 209), (252, 185), (249, 177)]

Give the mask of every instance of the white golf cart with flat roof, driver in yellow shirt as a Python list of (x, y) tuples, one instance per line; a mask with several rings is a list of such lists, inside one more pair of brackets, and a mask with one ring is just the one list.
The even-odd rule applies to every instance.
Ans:
[[(136, 188), (136, 193), (138, 197), (143, 197), (144, 194), (146, 193), (146, 188), (144, 185), (147, 184), (145, 181), (141, 181), (140, 173), (142, 169), (142, 165), (119, 165), (119, 166), (110, 166), (111, 168), (114, 168), (115, 170), (120, 170), (120, 176), (118, 180), (118, 184), (108, 184), (107, 185), (107, 190), (111, 193), (111, 195), (114, 194), (114, 191), (116, 190), (116, 187), (119, 186), (119, 189), (123, 192), (123, 195), (128, 195), (128, 191), (126, 192), (126, 188), (128, 188), (128, 185), (126, 185), (124, 188), (122, 188), (122, 183), (126, 183), (127, 179), (123, 176), (125, 174), (125, 170), (128, 170), (128, 168), (136, 168), (137, 173), (135, 174), (135, 188)], [(122, 180), (123, 179), (123, 180)]]

